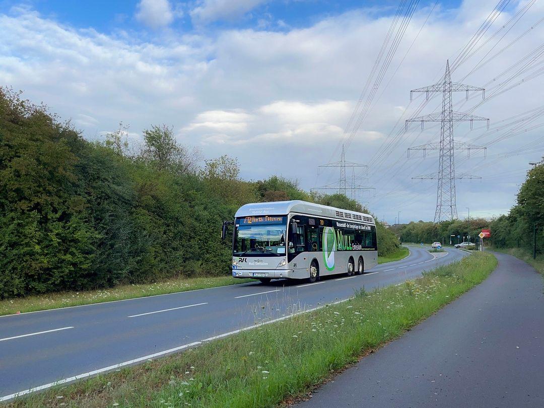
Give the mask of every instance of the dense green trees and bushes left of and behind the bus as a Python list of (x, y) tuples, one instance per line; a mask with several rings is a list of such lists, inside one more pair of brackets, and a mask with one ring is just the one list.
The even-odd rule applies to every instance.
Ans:
[[(362, 211), (292, 180), (240, 179), (236, 159), (199, 166), (172, 129), (151, 126), (90, 143), (69, 122), (0, 88), (0, 298), (174, 276), (220, 275), (231, 248), (223, 220), (247, 202), (300, 199)], [(380, 253), (397, 249), (378, 225)]]

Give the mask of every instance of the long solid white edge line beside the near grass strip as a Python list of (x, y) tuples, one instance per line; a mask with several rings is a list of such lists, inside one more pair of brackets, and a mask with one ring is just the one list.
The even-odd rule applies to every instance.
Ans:
[(75, 381), (75, 380), (81, 380), (81, 379), (90, 377), (92, 375), (96, 375), (96, 374), (100, 374), (100, 373), (103, 373), (103, 372), (111, 371), (111, 370), (114, 370), (114, 369), (117, 369), (117, 368), (120, 368), (120, 367), (129, 366), (131, 364), (138, 363), (140, 361), (149, 360), (150, 358), (160, 357), (160, 356), (163, 356), (165, 354), (171, 354), (171, 353), (174, 353), (175, 351), (180, 351), (180, 350), (183, 350), (183, 349), (187, 349), (189, 347), (194, 347), (196, 345), (200, 345), (200, 344), (205, 343), (205, 342), (211, 342), (213, 340), (217, 340), (217, 339), (222, 338), (222, 337), (236, 335), (237, 333), (240, 333), (240, 332), (243, 332), (243, 331), (246, 331), (246, 330), (255, 329), (256, 327), (261, 327), (261, 326), (264, 326), (266, 324), (280, 322), (281, 320), (289, 319), (289, 318), (292, 318), (293, 316), (298, 316), (299, 314), (302, 314), (302, 313), (310, 313), (310, 312), (322, 309), (322, 308), (324, 308), (326, 306), (338, 305), (340, 303), (347, 302), (348, 300), (351, 300), (351, 299), (353, 299), (353, 296), (351, 298), (348, 298), (348, 299), (337, 300), (335, 302), (327, 303), (325, 305), (317, 306), (317, 307), (314, 307), (314, 308), (311, 308), (311, 309), (308, 309), (308, 310), (303, 310), (303, 311), (300, 311), (300, 312), (292, 313), (292, 314), (289, 314), (288, 316), (282, 316), (282, 317), (277, 318), (277, 319), (268, 320), (267, 322), (255, 324), (253, 326), (243, 327), (242, 329), (229, 331), (227, 333), (222, 333), (221, 335), (218, 335), (218, 336), (208, 337), (208, 338), (203, 339), (200, 342), (193, 342), (193, 343), (189, 343), (189, 344), (180, 345), (179, 347), (175, 347), (173, 349), (159, 351), (158, 353), (153, 353), (153, 354), (150, 354), (150, 355), (144, 356), (144, 357), (134, 358), (134, 360), (125, 361), (125, 362), (122, 362), (122, 363), (119, 363), (119, 364), (115, 364), (114, 366), (108, 366), (108, 367), (100, 368), (100, 369), (97, 369), (97, 370), (94, 370), (94, 371), (89, 371), (87, 373), (74, 375), (72, 377), (65, 378), (64, 380), (59, 380), (57, 382), (50, 382), (49, 384), (40, 385), (39, 387), (29, 388), (28, 390), (19, 391), (19, 392), (16, 392), (14, 394), (4, 395), (4, 397), (0, 397), (0, 402), (1, 401), (7, 401), (9, 399), (13, 399), (13, 398), (16, 398), (16, 397), (21, 397), (21, 395), (29, 394), (29, 393), (32, 393), (32, 392), (46, 390), (46, 388), (51, 388), (51, 387), (54, 387), (55, 385), (65, 384), (66, 382), (71, 382), (71, 381)]

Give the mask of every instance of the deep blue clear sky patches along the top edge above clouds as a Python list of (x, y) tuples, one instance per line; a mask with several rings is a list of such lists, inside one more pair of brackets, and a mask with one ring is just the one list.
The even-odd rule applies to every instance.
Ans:
[[(235, 0), (236, 1), (236, 0)], [(206, 24), (206, 30), (225, 28), (266, 28), (287, 30), (293, 27), (309, 27), (325, 17), (336, 16), (347, 11), (361, 8), (375, 9), (376, 16), (393, 14), (397, 10), (397, 0), (271, 0), (256, 1), (257, 4), (245, 13), (234, 17), (218, 18)], [(75, 28), (93, 28), (99, 32), (112, 34), (119, 29), (138, 32), (146, 30), (145, 24), (135, 18), (138, 1), (127, 0), (94, 0), (82, 2), (78, 0), (2, 0), (2, 9), (9, 10), (13, 6), (26, 7), (39, 11), (45, 17), (60, 23), (70, 24)], [(202, 30), (200, 24), (194, 24), (190, 11), (203, 2), (171, 2), (172, 10), (177, 12), (170, 28), (178, 32)], [(434, 3), (422, 1), (422, 4)], [(458, 7), (459, 0), (442, 1), (445, 8)], [(279, 23), (280, 22), (280, 23)], [(286, 24), (285, 26), (283, 24)]]

